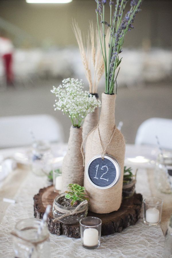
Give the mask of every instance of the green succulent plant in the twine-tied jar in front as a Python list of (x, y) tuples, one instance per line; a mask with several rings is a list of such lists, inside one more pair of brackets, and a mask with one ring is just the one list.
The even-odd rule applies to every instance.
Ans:
[(71, 200), (71, 206), (76, 204), (77, 201), (89, 201), (89, 197), (84, 193), (85, 187), (78, 184), (69, 184), (68, 189), (69, 191), (65, 191), (65, 198)]

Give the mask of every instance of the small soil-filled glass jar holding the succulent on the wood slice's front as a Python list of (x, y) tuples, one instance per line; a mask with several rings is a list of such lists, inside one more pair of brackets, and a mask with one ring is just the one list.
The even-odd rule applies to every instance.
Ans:
[[(65, 193), (61, 193), (54, 199), (52, 207), (52, 213), (54, 218), (59, 218), (60, 216), (66, 213), (71, 213), (76, 209), (76, 207), (64, 207), (60, 205), (58, 203), (58, 199), (63, 196), (65, 196)], [(88, 203), (84, 204), (81, 208), (79, 208), (79, 210), (77, 210), (76, 213), (60, 218), (59, 221), (63, 222), (64, 224), (77, 224), (79, 223), (79, 220), (81, 218), (85, 218), (87, 216), (87, 212)]]

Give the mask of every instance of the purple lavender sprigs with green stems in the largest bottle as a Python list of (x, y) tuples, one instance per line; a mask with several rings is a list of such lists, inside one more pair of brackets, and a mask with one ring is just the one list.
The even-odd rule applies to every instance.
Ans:
[[(128, 31), (134, 29), (133, 23), (136, 14), (140, 11), (140, 5), (142, 0), (131, 0), (130, 1), (130, 11), (126, 13), (123, 17), (126, 3), (128, 0), (116, 0), (115, 10), (112, 11), (114, 1), (109, 1), (110, 6), (110, 22), (105, 21), (105, 4), (106, 0), (95, 0), (97, 2), (97, 24), (99, 30), (99, 38), (101, 42), (101, 51), (103, 54), (103, 60), (105, 64), (105, 93), (114, 93), (114, 85), (117, 88), (117, 76), (116, 69), (120, 65), (122, 58), (119, 58), (119, 54), (122, 52), (122, 45), (124, 43), (125, 35)], [(101, 16), (101, 24), (103, 28), (103, 41), (100, 36), (99, 29), (99, 18), (98, 14)], [(108, 44), (108, 50), (105, 46), (105, 25), (110, 27), (110, 39)], [(104, 48), (104, 49), (103, 49)], [(108, 59), (106, 53), (108, 54)], [(115, 77), (116, 74), (116, 77)]]

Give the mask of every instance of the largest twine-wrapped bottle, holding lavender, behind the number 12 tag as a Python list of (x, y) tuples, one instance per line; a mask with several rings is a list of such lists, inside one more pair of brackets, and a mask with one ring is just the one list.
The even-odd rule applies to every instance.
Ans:
[(90, 198), (89, 210), (96, 213), (110, 213), (116, 211), (120, 208), (122, 201), (125, 141), (122, 133), (115, 127), (115, 99), (115, 94), (108, 95), (102, 93), (99, 133), (103, 148), (105, 148), (115, 129), (112, 140), (106, 149), (106, 154), (114, 157), (121, 168), (121, 177), (116, 185), (109, 189), (99, 189), (94, 187), (87, 178), (86, 168), (88, 162), (94, 156), (102, 153), (98, 128), (89, 134), (85, 146), (84, 187)]

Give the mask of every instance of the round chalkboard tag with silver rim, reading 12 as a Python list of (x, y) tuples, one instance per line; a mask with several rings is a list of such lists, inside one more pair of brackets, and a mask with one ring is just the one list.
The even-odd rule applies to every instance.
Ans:
[(108, 189), (120, 179), (121, 169), (114, 157), (105, 154), (93, 157), (87, 165), (87, 177), (92, 185), (99, 189)]

